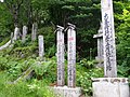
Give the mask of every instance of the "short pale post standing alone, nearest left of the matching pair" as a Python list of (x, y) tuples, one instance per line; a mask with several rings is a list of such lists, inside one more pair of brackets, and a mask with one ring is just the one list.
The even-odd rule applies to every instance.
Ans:
[(44, 46), (43, 46), (43, 36), (39, 36), (39, 57), (43, 57), (44, 55)]

